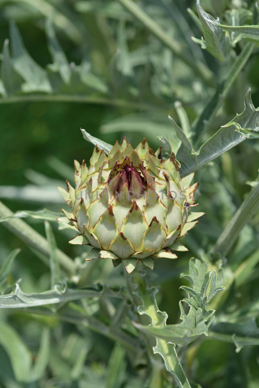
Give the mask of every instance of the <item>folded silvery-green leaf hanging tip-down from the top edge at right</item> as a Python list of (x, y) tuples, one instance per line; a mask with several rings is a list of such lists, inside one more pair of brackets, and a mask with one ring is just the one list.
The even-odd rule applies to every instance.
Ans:
[[(207, 14), (200, 6), (200, 0), (197, 0), (197, 11), (202, 22), (207, 50), (219, 61), (226, 61), (230, 45), (224, 31), (219, 28), (219, 18), (214, 19), (214, 17)], [(209, 23), (210, 21), (213, 23)]]

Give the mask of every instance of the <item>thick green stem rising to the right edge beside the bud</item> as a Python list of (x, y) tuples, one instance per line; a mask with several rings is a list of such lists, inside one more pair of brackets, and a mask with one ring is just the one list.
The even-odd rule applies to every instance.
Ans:
[(254, 182), (254, 187), (249, 196), (243, 201), (240, 208), (225, 227), (213, 250), (214, 255), (226, 256), (243, 227), (251, 220), (259, 208), (259, 181)]

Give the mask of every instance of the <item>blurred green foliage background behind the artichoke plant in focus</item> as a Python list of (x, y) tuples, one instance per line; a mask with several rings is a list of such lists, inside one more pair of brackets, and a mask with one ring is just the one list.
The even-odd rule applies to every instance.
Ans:
[[(221, 19), (223, 17), (224, 20), (224, 11), (229, 5), (235, 6), (235, 3), (239, 2), (204, 1), (202, 6), (210, 14)], [(167, 119), (170, 114), (180, 123), (174, 102), (182, 102), (189, 121), (193, 122), (214, 90), (213, 86), (206, 85), (189, 66), (172, 55), (168, 48), (116, 2), (35, 0), (33, 3), (2, 0), (0, 45), (10, 36), (9, 23), (15, 20), (24, 45), (33, 59), (43, 68), (52, 63), (45, 33), (46, 4), (53, 7), (54, 20), (62, 14), (70, 21), (64, 28), (55, 26), (68, 62), (79, 66), (82, 58), (88, 61), (91, 71), (104, 80), (111, 94), (103, 97), (103, 103), (78, 102), (78, 96), (96, 96), (98, 93), (92, 88), (75, 83), (67, 87), (68, 91), (65, 89), (66, 94), (71, 96), (67, 102), (61, 102), (59, 97), (51, 101), (44, 97), (39, 101), (23, 101), (23, 94), (20, 94), (17, 102), (12, 102), (11, 98), (10, 101), (8, 98), (7, 101), (0, 101), (0, 199), (12, 211), (37, 210), (43, 207), (59, 211), (63, 207), (63, 199), (59, 199), (59, 194), (55, 191), (56, 185), (60, 181), (64, 182), (66, 174), (68, 178), (68, 175), (71, 177), (74, 159), (80, 162), (82, 159), (89, 160), (92, 154), (93, 147), (82, 139), (80, 127), (110, 144), (126, 135), (132, 146), (136, 147), (143, 136), (146, 136), (151, 147), (156, 149), (160, 145), (156, 136), (170, 134), (176, 137)], [(248, 8), (252, 2), (242, 4), (240, 1), (240, 5)], [(112, 8), (109, 13), (111, 6), (118, 6), (118, 12), (114, 11), (117, 8)], [(207, 64), (214, 73), (216, 83), (222, 79), (230, 59), (221, 63), (190, 40), (191, 35), (200, 38), (202, 34), (186, 11), (188, 7), (196, 9), (194, 1), (144, 0), (141, 6), (181, 43), (186, 52), (191, 53), (193, 61), (201, 58)], [(108, 17), (111, 14), (112, 17)], [(73, 29), (79, 31), (79, 37), (73, 36)], [(236, 53), (238, 50), (240, 47), (236, 48)], [(231, 120), (236, 112), (241, 113), (248, 87), (252, 88), (254, 106), (259, 106), (258, 66), (259, 54), (256, 48), (233, 84), (224, 108), (219, 110), (210, 123), (210, 135)], [(57, 94), (62, 93), (63, 90)], [(119, 120), (117, 124), (116, 119)], [(205, 139), (206, 137), (207, 134)], [(258, 154), (258, 140), (246, 140), (219, 157), (213, 166), (205, 166), (196, 173), (196, 180), (200, 183), (196, 201), (200, 203), (199, 211), (205, 211), (206, 215), (186, 237), (189, 252), (181, 253), (174, 262), (156, 260), (154, 273), (149, 274), (150, 282), (160, 286), (159, 307), (160, 310), (167, 311), (168, 323), (179, 321), (178, 301), (184, 297), (184, 291), (179, 290), (179, 287), (187, 285), (187, 282), (179, 279), (180, 273), (186, 273), (189, 258), (198, 256), (200, 249), (210, 251), (223, 227), (242, 203), (250, 190), (245, 182), (257, 177)], [(62, 185), (65, 187), (64, 183)], [(52, 189), (46, 191), (46, 186)], [(249, 255), (257, 255), (257, 262), (259, 261), (258, 220), (257, 212), (251, 223), (243, 229), (238, 243), (231, 249), (227, 260), (232, 271)], [(42, 222), (29, 219), (26, 222), (45, 234)], [(83, 253), (83, 249), (68, 244), (73, 233), (61, 232), (56, 225), (53, 225), (53, 229), (58, 247), (68, 256), (74, 258)], [(21, 248), (22, 251), (14, 262), (9, 282), (21, 278), (20, 286), (24, 292), (49, 289), (49, 268), (39, 260), (35, 252), (0, 225), (1, 263), (15, 248)], [(85, 283), (101, 281), (113, 285), (123, 284), (119, 268), (113, 269), (111, 263), (98, 263), (85, 279)], [(245, 281), (233, 288), (230, 293), (231, 301), (225, 301), (225, 308), (223, 306), (219, 311), (223, 319), (226, 312), (258, 301), (258, 276), (259, 269), (255, 265)], [(101, 314), (105, 319), (106, 308), (103, 307)], [(3, 387), (142, 386), (139, 375), (122, 350), (114, 348), (114, 342), (101, 334), (80, 325), (61, 323), (56, 318), (21, 311), (0, 310), (0, 317), (17, 331), (33, 357), (38, 352), (43, 327), (50, 328), (51, 338), (47, 367), (34, 385), (17, 381), (10, 355), (0, 346), (0, 385)], [(257, 319), (257, 314), (253, 317)], [(257, 338), (258, 336), (257, 333)], [(17, 342), (13, 341), (12, 346), (15, 352)], [(113, 364), (114, 360), (110, 356), (112, 350), (114, 357), (116, 352), (122, 352), (119, 355), (123, 360), (121, 365)], [(82, 355), (82, 365), (76, 369), (78, 355)], [(232, 343), (198, 341), (182, 357), (184, 361), (182, 359), (181, 362), (189, 378), (200, 383), (203, 388), (258, 386), (258, 346), (248, 346), (236, 353)], [(23, 365), (20, 367), (23, 368)], [(118, 374), (113, 385), (109, 373), (116, 367), (119, 367), (121, 374)]]

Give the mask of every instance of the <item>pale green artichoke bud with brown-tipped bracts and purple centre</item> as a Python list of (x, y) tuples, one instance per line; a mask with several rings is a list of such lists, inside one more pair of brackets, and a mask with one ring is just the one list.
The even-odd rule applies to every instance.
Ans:
[(146, 139), (134, 150), (124, 138), (108, 156), (94, 148), (90, 167), (75, 161), (75, 188), (59, 187), (72, 212), (63, 210), (81, 234), (71, 244), (93, 247), (88, 260), (112, 258), (131, 272), (139, 260), (153, 268), (153, 259), (177, 258), (173, 250), (187, 250), (178, 240), (203, 213), (189, 213), (195, 206), (198, 183), (193, 175), (180, 178), (174, 153), (162, 160)]

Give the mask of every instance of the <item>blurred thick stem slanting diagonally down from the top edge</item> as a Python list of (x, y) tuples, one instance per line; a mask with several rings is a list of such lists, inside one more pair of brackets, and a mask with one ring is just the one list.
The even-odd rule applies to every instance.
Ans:
[(149, 29), (164, 45), (166, 45), (174, 54), (177, 55), (183, 62), (185, 62), (190, 68), (192, 68), (196, 74), (198, 74), (204, 81), (210, 85), (214, 85), (213, 73), (207, 66), (200, 61), (194, 61), (193, 57), (186, 54), (186, 50), (181, 43), (174, 40), (169, 34), (167, 34), (159, 24), (151, 19), (146, 12), (144, 12), (136, 3), (132, 0), (119, 0), (119, 2), (131, 12), (143, 25)]

